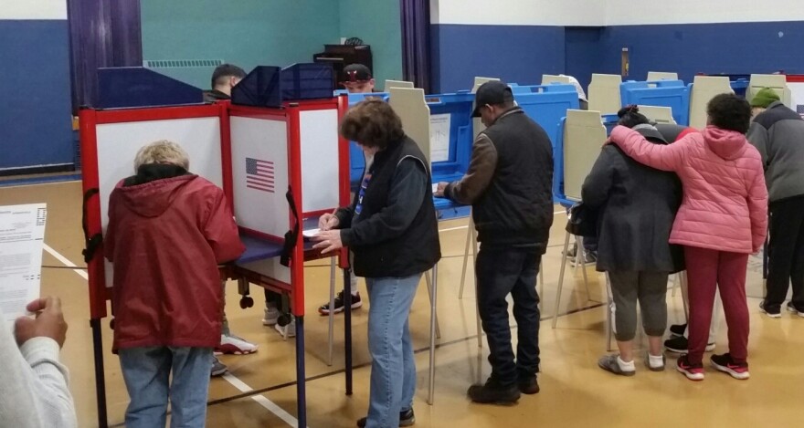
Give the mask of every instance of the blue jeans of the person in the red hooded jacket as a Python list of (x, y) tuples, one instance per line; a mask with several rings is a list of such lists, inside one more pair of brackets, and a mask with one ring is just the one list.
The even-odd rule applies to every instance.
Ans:
[(168, 399), (172, 428), (204, 427), (212, 348), (130, 348), (119, 354), (132, 400), (126, 409), (127, 428), (164, 427)]

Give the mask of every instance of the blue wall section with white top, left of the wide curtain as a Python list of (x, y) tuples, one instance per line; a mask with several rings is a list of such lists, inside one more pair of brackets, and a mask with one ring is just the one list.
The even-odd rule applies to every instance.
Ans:
[(75, 144), (66, 3), (30, 0), (0, 9), (0, 40), (0, 174), (69, 170)]

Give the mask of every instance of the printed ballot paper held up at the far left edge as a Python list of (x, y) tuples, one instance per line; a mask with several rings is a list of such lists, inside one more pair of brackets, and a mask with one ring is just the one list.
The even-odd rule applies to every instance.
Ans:
[(46, 204), (0, 206), (0, 309), (9, 321), (39, 297), (47, 214)]

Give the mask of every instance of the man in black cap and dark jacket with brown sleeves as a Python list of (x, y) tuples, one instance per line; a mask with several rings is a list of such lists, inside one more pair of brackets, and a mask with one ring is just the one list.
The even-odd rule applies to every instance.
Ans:
[[(474, 141), (466, 175), (439, 183), (436, 195), (472, 205), (481, 243), (477, 298), (492, 376), (471, 386), (469, 396), (473, 402), (516, 402), (520, 392), (539, 391), (536, 274), (553, 224), (553, 149), (545, 130), (516, 106), (506, 84), (483, 84), (475, 104), (473, 116), (488, 128)], [(509, 293), (519, 339), (515, 362)]]

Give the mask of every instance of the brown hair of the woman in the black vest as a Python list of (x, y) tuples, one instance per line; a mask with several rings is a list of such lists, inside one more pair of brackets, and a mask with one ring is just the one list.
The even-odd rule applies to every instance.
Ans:
[(402, 140), (402, 120), (387, 102), (366, 99), (346, 112), (341, 121), (341, 135), (365, 147), (385, 149), (390, 143)]

